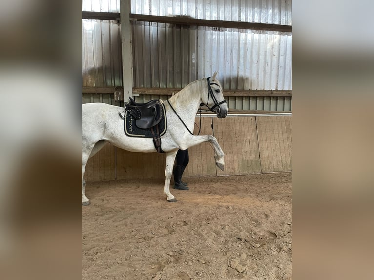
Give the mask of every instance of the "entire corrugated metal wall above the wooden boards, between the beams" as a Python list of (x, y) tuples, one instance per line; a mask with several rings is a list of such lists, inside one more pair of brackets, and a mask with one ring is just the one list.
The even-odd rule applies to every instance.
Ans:
[[(119, 12), (119, 0), (83, 0), (82, 5), (86, 11)], [(292, 23), (291, 0), (131, 0), (131, 12)], [(120, 38), (116, 21), (82, 20), (83, 86), (122, 85)], [(290, 33), (133, 21), (132, 44), (134, 87), (181, 88), (218, 70), (224, 89), (292, 89)], [(139, 102), (147, 99), (137, 97)], [(103, 100), (103, 95), (83, 95), (83, 102), (90, 100)], [(229, 97), (228, 104), (233, 109), (291, 111), (291, 96)]]

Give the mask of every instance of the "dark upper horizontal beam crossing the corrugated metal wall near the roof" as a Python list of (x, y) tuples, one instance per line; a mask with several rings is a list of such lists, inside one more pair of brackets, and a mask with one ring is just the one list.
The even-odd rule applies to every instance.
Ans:
[[(120, 13), (108, 12), (87, 12), (82, 11), (82, 19), (96, 20), (120, 20)], [(188, 17), (165, 17), (153, 15), (130, 14), (130, 20), (169, 23), (177, 25), (208, 26), (217, 28), (235, 28), (251, 29), (262, 31), (292, 32), (291, 25), (245, 22), (245, 21), (228, 21), (228, 20), (202, 20)]]

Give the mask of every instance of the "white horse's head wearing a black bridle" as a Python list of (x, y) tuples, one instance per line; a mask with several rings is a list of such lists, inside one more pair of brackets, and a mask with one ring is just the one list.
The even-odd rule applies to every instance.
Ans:
[(214, 72), (213, 77), (207, 78), (208, 95), (204, 94), (202, 101), (210, 111), (217, 114), (218, 118), (225, 118), (228, 113), (228, 107), (223, 97), (222, 86), (220, 82), (215, 79), (216, 75), (217, 72)]

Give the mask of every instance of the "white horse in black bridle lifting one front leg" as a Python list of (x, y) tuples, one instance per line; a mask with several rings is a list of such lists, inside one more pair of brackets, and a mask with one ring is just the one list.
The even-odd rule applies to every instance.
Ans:
[[(167, 116), (167, 131), (161, 136), (161, 148), (166, 153), (164, 195), (168, 202), (176, 202), (170, 193), (170, 179), (174, 159), (178, 149), (209, 142), (215, 152), (216, 165), (223, 170), (224, 153), (212, 135), (192, 135), (195, 116), (200, 104), (206, 105), (218, 118), (225, 118), (228, 113), (227, 103), (223, 97), (222, 87), (215, 80), (203, 78), (188, 84), (185, 88), (164, 102)], [(82, 105), (82, 205), (88, 205), (85, 196), (85, 167), (90, 157), (95, 155), (109, 142), (121, 149), (131, 152), (156, 152), (152, 138), (128, 137), (124, 133), (124, 120), (118, 115), (123, 107), (104, 103)]]

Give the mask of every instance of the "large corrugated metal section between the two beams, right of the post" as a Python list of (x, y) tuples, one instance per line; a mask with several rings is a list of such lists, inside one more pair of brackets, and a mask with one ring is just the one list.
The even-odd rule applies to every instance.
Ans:
[(291, 90), (291, 35), (133, 22), (135, 87), (181, 88), (218, 71), (225, 89)]

